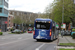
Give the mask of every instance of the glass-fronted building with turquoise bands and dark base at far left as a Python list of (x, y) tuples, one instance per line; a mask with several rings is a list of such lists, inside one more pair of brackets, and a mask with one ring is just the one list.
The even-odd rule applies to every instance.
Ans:
[(8, 0), (0, 0), (0, 29), (7, 31)]

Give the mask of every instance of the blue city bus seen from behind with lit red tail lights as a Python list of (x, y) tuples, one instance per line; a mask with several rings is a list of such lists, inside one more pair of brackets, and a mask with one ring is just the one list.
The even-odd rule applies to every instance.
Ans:
[(51, 19), (35, 19), (33, 38), (37, 41), (40, 39), (54, 40), (58, 38), (56, 23)]

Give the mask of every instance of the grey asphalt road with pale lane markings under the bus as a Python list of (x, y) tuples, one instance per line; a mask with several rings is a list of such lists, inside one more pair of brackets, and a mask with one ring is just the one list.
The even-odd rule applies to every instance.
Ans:
[(56, 50), (56, 45), (57, 40), (37, 42), (28, 33), (0, 36), (0, 50)]

